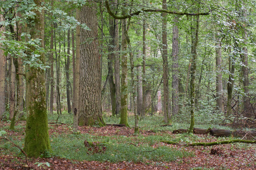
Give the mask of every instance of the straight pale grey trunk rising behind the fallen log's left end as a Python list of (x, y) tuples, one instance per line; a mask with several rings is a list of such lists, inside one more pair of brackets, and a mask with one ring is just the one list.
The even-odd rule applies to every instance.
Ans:
[(179, 112), (179, 28), (178, 17), (174, 18), (172, 28), (172, 114)]

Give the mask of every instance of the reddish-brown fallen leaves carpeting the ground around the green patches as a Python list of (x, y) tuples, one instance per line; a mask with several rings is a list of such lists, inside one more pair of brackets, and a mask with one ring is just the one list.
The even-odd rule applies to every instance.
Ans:
[[(24, 122), (22, 122), (24, 124)], [(7, 126), (1, 124), (0, 128)], [(57, 135), (59, 133), (72, 133), (72, 129), (68, 128), (68, 125), (60, 124), (50, 124), (49, 134)], [(81, 133), (89, 133), (99, 136), (113, 136), (113, 135), (126, 135), (127, 137), (134, 135), (134, 130), (132, 128), (117, 127), (117, 126), (105, 126), (102, 128), (95, 127), (79, 127)], [(8, 135), (22, 136), (24, 132), (19, 130), (18, 132), (13, 132), (6, 130)], [(154, 132), (151, 130), (140, 131), (142, 135), (156, 135), (161, 133), (168, 133), (175, 138), (175, 134), (171, 131), (158, 131)], [(214, 142), (217, 141), (215, 137), (204, 138), (203, 135), (199, 135), (201, 141), (198, 142)], [(2, 141), (0, 141), (2, 142)], [(47, 159), (30, 159), (30, 164), (33, 169), (40, 169), (35, 163), (50, 163), (51, 167), (46, 169), (193, 169), (196, 167), (198, 169), (256, 169), (256, 153), (255, 147), (250, 147), (253, 145), (245, 145), (248, 147), (240, 147), (239, 144), (236, 145), (217, 145), (212, 147), (182, 147), (178, 145), (167, 145), (166, 143), (155, 141), (155, 147), (160, 145), (166, 145), (169, 147), (177, 148), (178, 150), (184, 149), (188, 152), (195, 154), (193, 157), (177, 159), (175, 162), (146, 162), (146, 163), (132, 163), (132, 162), (88, 162), (88, 161), (76, 161), (68, 160), (62, 158), (47, 158)], [(92, 148), (91, 153), (94, 152), (104, 152), (103, 147), (98, 147), (97, 143), (95, 146), (88, 146)], [(98, 148), (97, 148), (98, 147)], [(1, 148), (0, 148), (1, 153)], [(14, 161), (15, 160), (15, 161)], [(0, 169), (27, 169), (26, 161), (22, 158), (16, 158), (12, 155), (1, 155), (0, 154)], [(41, 168), (42, 169), (42, 168)]]

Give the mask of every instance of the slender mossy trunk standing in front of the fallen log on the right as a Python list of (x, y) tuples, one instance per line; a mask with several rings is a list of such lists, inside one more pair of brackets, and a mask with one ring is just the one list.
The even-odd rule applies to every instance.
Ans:
[(191, 20), (191, 54), (192, 54), (192, 62), (191, 62), (191, 81), (190, 81), (190, 87), (191, 87), (191, 110), (190, 110), (190, 116), (191, 116), (191, 123), (189, 127), (189, 133), (193, 133), (193, 128), (195, 125), (195, 97), (196, 97), (196, 60), (197, 60), (197, 53), (196, 48), (198, 44), (198, 32), (199, 32), (199, 16), (193, 16), (193, 19)]

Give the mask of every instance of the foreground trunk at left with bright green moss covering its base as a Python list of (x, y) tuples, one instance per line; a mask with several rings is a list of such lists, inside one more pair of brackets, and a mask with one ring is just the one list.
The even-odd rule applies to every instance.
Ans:
[[(34, 1), (40, 6), (43, 1)], [(28, 25), (31, 39), (42, 39), (44, 47), (44, 12), (34, 11), (36, 16)], [(30, 48), (30, 53), (35, 49)], [(44, 63), (44, 54), (40, 54), (40, 62)], [(46, 88), (44, 70), (39, 67), (26, 65), (26, 106), (27, 126), (24, 151), (30, 157), (38, 157), (44, 152), (51, 152), (48, 134), (48, 120), (46, 107)]]

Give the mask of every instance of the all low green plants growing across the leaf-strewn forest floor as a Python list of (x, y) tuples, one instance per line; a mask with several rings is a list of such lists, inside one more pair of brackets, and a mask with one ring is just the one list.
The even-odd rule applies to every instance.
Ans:
[[(59, 117), (59, 118), (58, 118)], [(68, 129), (72, 129), (73, 116), (67, 112), (63, 112), (60, 116), (56, 113), (48, 115), (48, 122), (60, 122), (68, 125)], [(104, 121), (106, 124), (118, 124), (119, 117), (110, 117), (104, 114)], [(210, 140), (210, 136), (207, 135), (191, 135), (191, 134), (170, 134), (170, 131), (176, 129), (187, 129), (188, 124), (181, 124), (173, 121), (172, 126), (164, 125), (163, 116), (146, 116), (139, 121), (139, 130), (150, 131), (148, 135), (144, 134), (129, 134), (126, 135), (113, 135), (113, 136), (96, 136), (93, 134), (70, 134), (59, 133), (59, 131), (53, 131), (50, 135), (51, 148), (54, 156), (60, 156), (61, 158), (72, 160), (97, 160), (108, 162), (171, 162), (176, 159), (184, 158), (187, 156), (193, 156), (193, 152), (188, 152), (183, 148), (172, 148), (170, 146), (163, 146), (160, 141), (172, 141), (172, 142), (185, 142), (193, 143)], [(131, 128), (134, 128), (134, 116), (128, 117), (128, 123)], [(97, 127), (97, 126), (95, 126)], [(8, 130), (8, 126), (3, 126), (2, 130)], [(24, 128), (25, 125), (18, 124), (15, 126), (14, 132), (18, 132), (20, 136), (10, 135), (7, 136), (16, 145), (23, 148), (24, 143)], [(49, 125), (49, 129), (54, 130), (56, 127)], [(230, 129), (221, 127), (218, 125), (196, 125), (195, 128), (218, 128), (218, 129)], [(65, 129), (63, 129), (65, 130)], [(121, 130), (121, 129), (120, 129)], [(70, 130), (68, 130), (70, 132)], [(230, 138), (217, 138), (217, 141), (224, 141)], [(84, 146), (84, 141), (94, 143), (105, 143), (104, 147), (99, 147), (99, 150), (95, 150), (93, 147)], [(249, 147), (249, 145), (236, 143), (232, 144), (240, 148)], [(236, 147), (234, 147), (236, 148)], [(19, 149), (11, 145), (10, 142), (0, 140), (1, 154), (5, 155), (18, 155)]]

